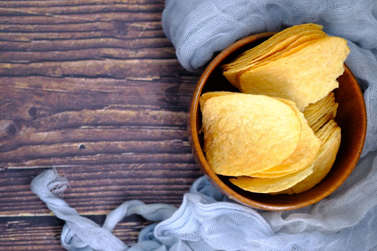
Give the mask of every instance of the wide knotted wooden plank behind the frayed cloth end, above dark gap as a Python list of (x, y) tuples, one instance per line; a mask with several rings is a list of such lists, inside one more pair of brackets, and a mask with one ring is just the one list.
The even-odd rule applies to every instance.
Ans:
[(176, 78), (8, 78), (0, 85), (9, 104), (2, 114), (12, 118), (0, 120), (7, 128), (0, 141), (1, 215), (48, 214), (29, 184), (50, 166), (78, 189), (65, 198), (80, 213), (106, 214), (130, 199), (178, 206), (201, 173), (187, 142), (187, 113), (166, 97), (186, 97), (186, 110), (196, 78), (179, 85)]

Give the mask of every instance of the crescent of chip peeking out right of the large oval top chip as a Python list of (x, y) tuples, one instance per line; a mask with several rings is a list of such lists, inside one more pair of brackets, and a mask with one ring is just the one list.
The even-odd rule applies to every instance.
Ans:
[[(260, 173), (285, 173), (300, 170), (313, 162), (316, 157), (321, 141), (314, 135), (313, 130), (307, 124), (303, 114), (297, 109), (294, 102), (276, 98), (289, 105), (297, 114), (301, 123), (301, 137), (293, 154), (282, 163), (262, 171)], [(288, 174), (288, 173), (287, 173)]]

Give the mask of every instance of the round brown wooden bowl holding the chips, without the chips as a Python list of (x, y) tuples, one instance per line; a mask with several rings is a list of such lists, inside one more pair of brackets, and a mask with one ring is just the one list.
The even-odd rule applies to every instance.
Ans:
[(222, 75), (220, 66), (230, 62), (245, 50), (262, 43), (276, 32), (266, 32), (244, 38), (219, 53), (202, 73), (192, 96), (190, 114), (187, 122), (189, 142), (192, 153), (207, 179), (224, 195), (240, 204), (265, 210), (290, 210), (311, 205), (334, 192), (354, 169), (363, 149), (366, 134), (366, 109), (359, 84), (345, 65), (345, 71), (339, 76), (339, 88), (334, 90), (339, 108), (336, 122), (342, 129), (342, 140), (336, 161), (328, 175), (312, 189), (294, 195), (268, 195), (240, 189), (228, 181), (228, 176), (214, 173), (203, 154), (202, 114), (199, 97), (207, 91), (239, 90), (231, 85)]

